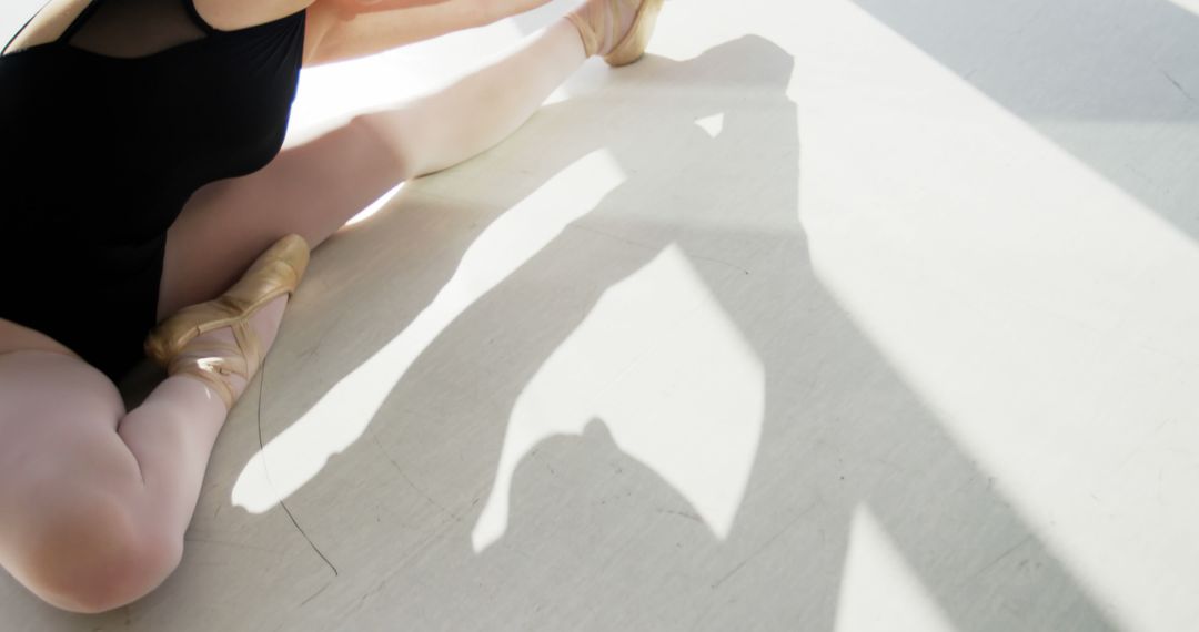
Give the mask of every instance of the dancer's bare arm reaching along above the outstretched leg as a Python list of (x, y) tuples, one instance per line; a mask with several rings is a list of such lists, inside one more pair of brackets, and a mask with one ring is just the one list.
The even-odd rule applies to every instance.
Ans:
[(361, 57), (490, 24), (550, 0), (315, 0), (305, 63)]

